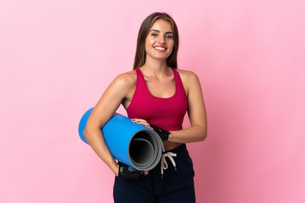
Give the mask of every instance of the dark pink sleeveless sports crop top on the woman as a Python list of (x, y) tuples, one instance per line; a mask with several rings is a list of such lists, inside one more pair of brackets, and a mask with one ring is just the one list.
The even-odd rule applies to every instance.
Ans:
[(175, 80), (175, 94), (170, 98), (153, 96), (144, 79), (140, 68), (135, 69), (137, 80), (133, 99), (127, 108), (129, 118), (141, 118), (165, 130), (180, 130), (188, 109), (185, 89), (179, 73), (175, 68), (172, 72)]

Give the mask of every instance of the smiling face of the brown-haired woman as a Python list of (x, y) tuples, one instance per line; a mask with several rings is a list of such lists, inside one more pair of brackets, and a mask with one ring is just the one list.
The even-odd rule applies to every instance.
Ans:
[(173, 45), (171, 23), (163, 19), (156, 20), (146, 37), (146, 60), (149, 58), (166, 60), (172, 53)]

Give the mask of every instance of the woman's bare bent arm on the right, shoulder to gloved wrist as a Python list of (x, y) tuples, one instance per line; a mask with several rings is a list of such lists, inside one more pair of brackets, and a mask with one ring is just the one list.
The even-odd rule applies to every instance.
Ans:
[(188, 115), (191, 127), (170, 131), (168, 141), (176, 143), (190, 143), (204, 141), (207, 137), (207, 113), (202, 95), (200, 81), (191, 71), (179, 71), (188, 98)]

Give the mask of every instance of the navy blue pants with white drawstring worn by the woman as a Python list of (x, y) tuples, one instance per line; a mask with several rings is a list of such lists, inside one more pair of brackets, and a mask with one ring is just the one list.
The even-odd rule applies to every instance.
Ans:
[(177, 154), (176, 170), (166, 157), (163, 178), (161, 162), (139, 180), (115, 177), (114, 203), (195, 203), (194, 170), (186, 144), (168, 152)]

